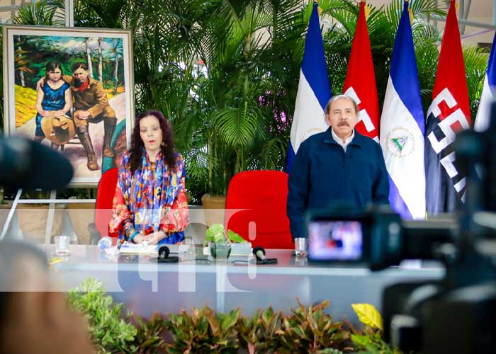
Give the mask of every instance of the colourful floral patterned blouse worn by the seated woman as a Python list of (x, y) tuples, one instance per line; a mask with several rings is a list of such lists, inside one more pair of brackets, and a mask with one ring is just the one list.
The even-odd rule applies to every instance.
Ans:
[(118, 171), (110, 232), (118, 232), (120, 243), (135, 231), (147, 235), (160, 230), (167, 237), (159, 244), (182, 241), (189, 215), (181, 155), (176, 154), (176, 165), (169, 170), (161, 152), (152, 162), (143, 149), (142, 166), (134, 174), (129, 158), (125, 152)]

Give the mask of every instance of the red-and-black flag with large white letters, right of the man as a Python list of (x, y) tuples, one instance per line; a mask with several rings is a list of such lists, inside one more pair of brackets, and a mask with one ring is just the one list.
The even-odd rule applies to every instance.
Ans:
[(456, 161), (456, 133), (470, 128), (467, 79), (455, 1), (449, 4), (432, 103), (425, 127), (427, 215), (453, 212), (465, 200), (466, 176)]

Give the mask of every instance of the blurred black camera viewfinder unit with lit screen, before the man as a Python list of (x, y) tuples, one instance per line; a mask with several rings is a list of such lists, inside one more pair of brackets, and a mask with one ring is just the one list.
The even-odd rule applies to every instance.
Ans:
[(437, 260), (456, 234), (451, 219), (405, 222), (385, 205), (311, 210), (307, 224), (309, 261), (361, 263), (371, 270), (405, 259)]

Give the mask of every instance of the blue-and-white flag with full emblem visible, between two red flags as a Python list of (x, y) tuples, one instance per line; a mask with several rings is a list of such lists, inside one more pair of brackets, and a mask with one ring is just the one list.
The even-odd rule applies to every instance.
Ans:
[(391, 207), (403, 219), (425, 219), (424, 113), (406, 1), (393, 48), (380, 137)]

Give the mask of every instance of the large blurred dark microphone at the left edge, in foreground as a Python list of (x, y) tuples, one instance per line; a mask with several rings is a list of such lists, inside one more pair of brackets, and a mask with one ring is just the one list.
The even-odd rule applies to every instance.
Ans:
[(74, 175), (59, 152), (25, 137), (0, 137), (0, 184), (13, 188), (64, 188)]

